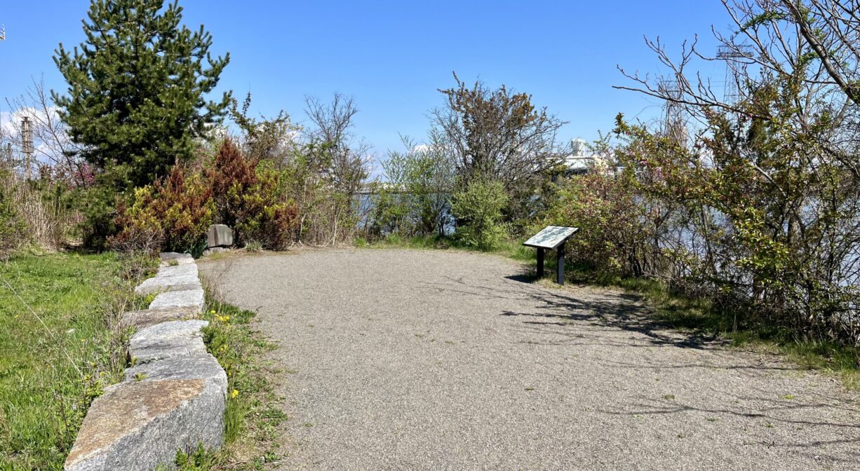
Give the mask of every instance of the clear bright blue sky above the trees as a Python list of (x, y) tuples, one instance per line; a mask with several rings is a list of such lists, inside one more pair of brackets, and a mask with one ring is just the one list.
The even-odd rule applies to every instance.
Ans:
[[(648, 119), (660, 104), (612, 89), (630, 84), (617, 65), (661, 72), (642, 36), (660, 39), (676, 56), (695, 34), (710, 51), (711, 25), (729, 18), (719, 0), (598, 2), (286, 2), (181, 0), (183, 21), (212, 33), (212, 52), (230, 52), (219, 89), (250, 91), (252, 111), (283, 108), (301, 123), (304, 95), (339, 91), (359, 107), (355, 132), (379, 156), (400, 148), (400, 134), (423, 138), (427, 110), (442, 104), (437, 89), (480, 77), (493, 87), (533, 95), (538, 106), (569, 121), (561, 138), (608, 131), (619, 112)], [(0, 0), (0, 97), (21, 94), (31, 77), (64, 89), (52, 61), (59, 42), (83, 40), (87, 0)], [(720, 64), (703, 73), (722, 81)], [(9, 111), (5, 103), (0, 111)]]

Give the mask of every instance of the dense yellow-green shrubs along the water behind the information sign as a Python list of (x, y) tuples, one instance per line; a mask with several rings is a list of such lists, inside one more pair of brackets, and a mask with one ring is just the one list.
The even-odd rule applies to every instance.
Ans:
[(816, 128), (775, 140), (784, 122), (736, 119), (710, 113), (710, 136), (721, 138), (691, 147), (619, 119), (611, 170), (565, 181), (540, 223), (581, 228), (569, 247), (593, 273), (660, 279), (732, 312), (735, 328), (857, 342), (851, 168), (826, 157)]

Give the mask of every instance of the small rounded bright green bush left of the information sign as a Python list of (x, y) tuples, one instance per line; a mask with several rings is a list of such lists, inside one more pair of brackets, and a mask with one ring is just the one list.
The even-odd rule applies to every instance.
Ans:
[(507, 235), (501, 223), (507, 193), (501, 182), (471, 180), (464, 190), (453, 193), (451, 213), (458, 222), (455, 236), (470, 248), (491, 250)]

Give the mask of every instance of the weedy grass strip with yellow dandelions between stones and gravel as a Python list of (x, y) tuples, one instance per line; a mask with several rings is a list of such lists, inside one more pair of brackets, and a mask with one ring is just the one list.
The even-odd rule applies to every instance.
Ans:
[(260, 358), (276, 346), (251, 328), (255, 313), (223, 303), (210, 291), (206, 305), (206, 348), (227, 372), (224, 447), (180, 453), (176, 464), (181, 471), (261, 469), (278, 460), (278, 426), (286, 420), (271, 379), (279, 371)]

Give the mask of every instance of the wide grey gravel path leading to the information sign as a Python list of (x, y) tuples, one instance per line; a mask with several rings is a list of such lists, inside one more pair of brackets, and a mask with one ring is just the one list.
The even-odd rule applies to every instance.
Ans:
[(292, 370), (282, 469), (860, 469), (858, 395), (661, 330), (628, 295), (455, 251), (200, 270)]

